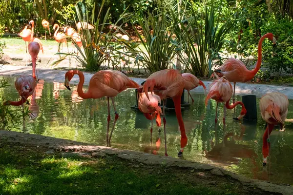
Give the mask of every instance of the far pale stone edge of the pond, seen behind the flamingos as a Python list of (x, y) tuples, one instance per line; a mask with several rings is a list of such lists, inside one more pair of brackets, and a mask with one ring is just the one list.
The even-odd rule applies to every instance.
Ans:
[[(38, 76), (40, 79), (64, 82), (64, 75), (66, 70), (55, 70), (49, 68), (38, 68)], [(20, 76), (23, 74), (30, 75), (32, 73), (31, 66), (14, 66), (14, 65), (3, 65), (0, 67), (0, 76)], [(84, 84), (88, 85), (90, 78), (93, 76), (91, 73), (84, 72)], [(131, 78), (137, 83), (142, 83), (146, 78)], [(77, 84), (79, 82), (78, 76), (75, 76), (70, 81), (71, 83)], [(210, 81), (203, 81), (208, 87)], [(199, 86), (191, 92), (205, 93), (203, 87)], [(288, 86), (277, 86), (277, 85), (266, 85), (266, 84), (251, 84), (251, 83), (240, 83), (237, 82), (235, 93), (237, 95), (255, 95), (260, 98), (262, 95), (271, 92), (280, 92), (285, 94), (289, 99), (293, 99), (293, 87)]]

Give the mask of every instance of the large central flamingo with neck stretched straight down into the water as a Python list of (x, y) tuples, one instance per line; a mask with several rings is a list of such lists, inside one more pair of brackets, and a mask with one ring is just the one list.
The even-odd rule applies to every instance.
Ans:
[(148, 90), (154, 92), (157, 96), (163, 99), (163, 124), (165, 136), (165, 156), (167, 155), (167, 140), (166, 140), (166, 118), (165, 118), (165, 99), (172, 98), (175, 106), (176, 117), (181, 132), (180, 151), (178, 156), (182, 156), (184, 147), (187, 145), (187, 136), (185, 133), (184, 122), (181, 114), (181, 96), (184, 89), (184, 79), (178, 70), (166, 69), (160, 70), (151, 74), (146, 82), (138, 89), (139, 93), (145, 92), (149, 99)]

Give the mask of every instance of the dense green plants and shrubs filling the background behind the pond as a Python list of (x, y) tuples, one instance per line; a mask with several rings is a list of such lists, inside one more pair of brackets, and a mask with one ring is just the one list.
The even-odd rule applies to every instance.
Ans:
[[(266, 80), (272, 75), (293, 73), (292, 7), (291, 0), (2, 0), (0, 35), (3, 30), (20, 32), (29, 20), (35, 20), (35, 33), (41, 36), (42, 19), (49, 20), (51, 25), (73, 27), (76, 21), (90, 19), (97, 28), (83, 31), (84, 51), (79, 51), (82, 58), (75, 56), (87, 70), (99, 70), (104, 62), (109, 62), (108, 67), (111, 63), (113, 68), (121, 69), (116, 62), (123, 60), (140, 64), (149, 73), (176, 67), (209, 77), (212, 67), (227, 58), (239, 58), (247, 66), (253, 65), (259, 38), (272, 32), (277, 47), (272, 48), (271, 42), (265, 41), (263, 67), (268, 69), (257, 75), (258, 79)], [(166, 18), (161, 20), (163, 15)], [(109, 30), (109, 24), (118, 29), (112, 25)], [(127, 29), (146, 43), (142, 47), (131, 40), (113, 44), (117, 33), (131, 37)], [(91, 43), (92, 47), (84, 47)], [(123, 44), (126, 52), (121, 50)], [(161, 45), (163, 49), (154, 53)], [(0, 58), (4, 46), (0, 41)]]

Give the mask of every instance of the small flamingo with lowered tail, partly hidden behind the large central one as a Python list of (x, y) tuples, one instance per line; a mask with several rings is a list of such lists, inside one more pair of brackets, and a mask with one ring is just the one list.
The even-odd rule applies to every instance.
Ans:
[(192, 103), (194, 102), (193, 98), (191, 97), (189, 91), (198, 87), (199, 85), (203, 86), (203, 88), (205, 89), (205, 91), (207, 90), (206, 85), (199, 80), (197, 77), (195, 77), (194, 75), (190, 74), (190, 73), (183, 73), (182, 77), (184, 79), (184, 89), (186, 89), (188, 91), (188, 102), (189, 102), (189, 96), (192, 99)]

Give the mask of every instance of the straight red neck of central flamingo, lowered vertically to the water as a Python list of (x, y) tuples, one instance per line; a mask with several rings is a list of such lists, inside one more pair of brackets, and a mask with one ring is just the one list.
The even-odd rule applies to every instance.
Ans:
[[(183, 90), (182, 90), (183, 92)], [(184, 122), (182, 119), (182, 113), (181, 113), (181, 95), (182, 92), (180, 94), (178, 94), (177, 96), (173, 97), (173, 102), (174, 102), (174, 106), (175, 106), (175, 112), (176, 112), (176, 117), (177, 117), (177, 121), (180, 127), (180, 132), (181, 132), (181, 140), (180, 140), (180, 144), (181, 144), (181, 150), (183, 152), (183, 148), (187, 145), (187, 136), (185, 133), (185, 126), (184, 126)]]

